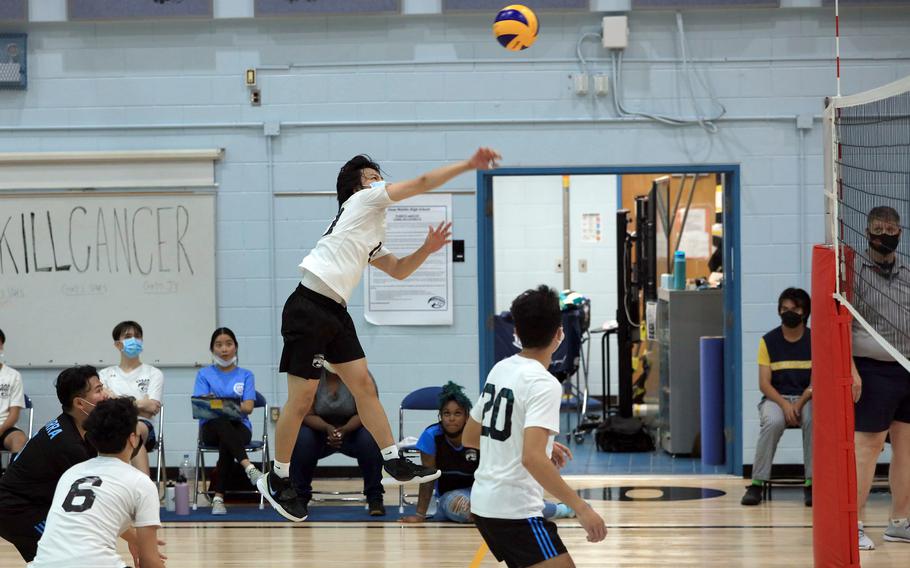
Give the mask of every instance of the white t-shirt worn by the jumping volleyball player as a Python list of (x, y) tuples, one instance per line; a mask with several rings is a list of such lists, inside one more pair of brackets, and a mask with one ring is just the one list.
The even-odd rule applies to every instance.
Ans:
[(352, 195), (322, 238), (300, 263), (345, 302), (360, 282), (367, 263), (389, 254), (385, 240), (385, 210), (394, 203), (385, 182)]

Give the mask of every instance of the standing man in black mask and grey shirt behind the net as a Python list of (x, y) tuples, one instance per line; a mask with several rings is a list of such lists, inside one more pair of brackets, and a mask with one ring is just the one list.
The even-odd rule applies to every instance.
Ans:
[[(853, 304), (878, 335), (910, 357), (910, 271), (897, 253), (900, 222), (900, 215), (891, 207), (869, 211), (869, 248), (856, 255)], [(857, 516), (863, 518), (875, 464), (890, 433), (891, 520), (884, 540), (910, 543), (910, 371), (858, 320), (853, 320), (853, 400)], [(875, 548), (862, 521), (859, 548)]]

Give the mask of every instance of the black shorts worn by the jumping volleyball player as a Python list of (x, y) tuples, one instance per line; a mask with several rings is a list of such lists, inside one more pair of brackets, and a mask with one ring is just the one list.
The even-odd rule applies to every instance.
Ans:
[(281, 336), (281, 373), (318, 379), (325, 361), (347, 363), (363, 359), (363, 347), (347, 309), (303, 284), (284, 303)]

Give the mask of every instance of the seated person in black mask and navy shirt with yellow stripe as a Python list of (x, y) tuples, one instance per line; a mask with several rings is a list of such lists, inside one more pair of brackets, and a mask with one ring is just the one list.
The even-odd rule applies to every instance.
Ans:
[(812, 339), (806, 326), (811, 307), (805, 290), (787, 288), (777, 299), (781, 325), (759, 341), (761, 430), (752, 464), (752, 485), (743, 495), (743, 505), (761, 503), (762, 485), (771, 479), (771, 465), (780, 437), (788, 427), (800, 426), (806, 471), (803, 497), (806, 506), (812, 506)]

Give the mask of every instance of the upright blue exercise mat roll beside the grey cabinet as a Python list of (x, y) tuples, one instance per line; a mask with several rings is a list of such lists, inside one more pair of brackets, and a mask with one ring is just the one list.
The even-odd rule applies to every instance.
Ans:
[(699, 342), (701, 390), (701, 463), (724, 463), (724, 338)]

